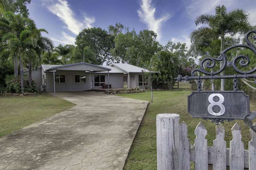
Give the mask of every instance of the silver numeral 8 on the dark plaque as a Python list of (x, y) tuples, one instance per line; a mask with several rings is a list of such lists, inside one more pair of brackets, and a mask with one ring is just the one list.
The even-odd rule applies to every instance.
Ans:
[[(215, 96), (218, 96), (219, 97), (219, 101), (218, 102), (215, 102), (213, 101), (213, 97)], [(225, 106), (222, 104), (224, 102), (224, 97), (221, 95), (221, 94), (211, 94), (209, 97), (208, 97), (208, 100), (209, 102), (211, 103), (209, 106), (208, 106), (208, 112), (211, 114), (211, 115), (214, 115), (214, 116), (221, 116), (225, 113)], [(219, 111), (219, 113), (215, 113), (213, 112), (212, 110), (212, 107), (213, 106), (219, 106), (221, 108), (221, 111)]]

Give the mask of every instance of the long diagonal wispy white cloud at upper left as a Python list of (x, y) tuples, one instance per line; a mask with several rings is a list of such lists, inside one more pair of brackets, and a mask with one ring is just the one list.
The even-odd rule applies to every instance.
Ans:
[[(84, 28), (92, 27), (92, 24), (95, 22), (94, 17), (89, 17), (85, 13), (82, 14), (83, 19), (78, 20), (66, 0), (48, 0), (47, 3), (43, 2), (43, 4), (47, 7), (48, 11), (58, 16), (58, 18), (65, 24), (64, 27), (66, 29), (75, 35), (79, 34)], [(70, 36), (63, 31), (61, 32), (61, 35), (62, 37), (52, 39), (62, 44), (74, 44), (74, 36)]]

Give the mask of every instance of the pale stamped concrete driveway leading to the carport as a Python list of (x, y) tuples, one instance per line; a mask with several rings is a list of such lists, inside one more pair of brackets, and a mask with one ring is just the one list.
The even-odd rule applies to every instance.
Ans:
[(57, 93), (71, 109), (0, 138), (0, 169), (123, 169), (148, 102)]

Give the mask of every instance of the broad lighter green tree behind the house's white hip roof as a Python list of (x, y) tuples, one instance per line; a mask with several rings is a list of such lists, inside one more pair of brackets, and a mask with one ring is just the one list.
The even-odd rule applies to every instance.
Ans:
[(161, 50), (156, 41), (156, 33), (150, 30), (135, 30), (119, 33), (114, 39), (115, 48), (111, 49), (112, 62), (129, 63), (136, 66), (145, 66), (146, 61)]

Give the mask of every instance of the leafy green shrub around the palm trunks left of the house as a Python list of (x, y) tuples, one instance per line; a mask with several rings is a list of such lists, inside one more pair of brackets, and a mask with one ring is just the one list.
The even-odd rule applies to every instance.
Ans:
[[(14, 75), (6, 75), (5, 77), (6, 92), (19, 93), (21, 92), (20, 86), (20, 76), (15, 77)], [(24, 75), (24, 92), (36, 92), (37, 87), (34, 81), (32, 81), (31, 86), (28, 83), (28, 76)]]

